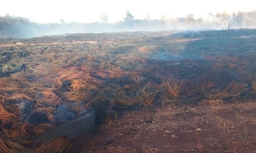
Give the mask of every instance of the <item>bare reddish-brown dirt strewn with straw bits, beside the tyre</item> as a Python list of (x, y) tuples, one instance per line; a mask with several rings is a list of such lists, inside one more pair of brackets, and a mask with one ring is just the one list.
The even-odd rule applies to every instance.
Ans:
[(76, 153), (255, 153), (256, 103), (126, 112), (96, 127)]

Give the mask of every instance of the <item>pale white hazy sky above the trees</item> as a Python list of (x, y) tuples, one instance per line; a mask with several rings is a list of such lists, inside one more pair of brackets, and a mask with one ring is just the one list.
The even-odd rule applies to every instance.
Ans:
[(39, 23), (96, 22), (102, 13), (107, 13), (109, 22), (125, 17), (129, 10), (135, 19), (206, 17), (209, 12), (256, 10), (255, 0), (1, 0), (0, 15), (27, 17)]

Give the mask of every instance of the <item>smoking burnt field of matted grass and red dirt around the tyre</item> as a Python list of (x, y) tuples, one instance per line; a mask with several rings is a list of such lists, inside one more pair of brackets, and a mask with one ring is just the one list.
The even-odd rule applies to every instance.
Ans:
[[(255, 29), (0, 38), (0, 152), (255, 152), (255, 59)], [(32, 141), (87, 106), (87, 142)]]

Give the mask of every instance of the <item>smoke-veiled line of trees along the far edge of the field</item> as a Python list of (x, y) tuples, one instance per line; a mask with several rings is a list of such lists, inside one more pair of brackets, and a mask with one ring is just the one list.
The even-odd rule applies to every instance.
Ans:
[[(126, 14), (124, 21), (117, 23), (35, 23), (27, 18), (6, 15), (0, 17), (0, 37), (40, 37), (44, 35), (66, 33), (100, 33), (121, 31), (179, 31), (200, 29), (256, 28), (256, 11), (237, 12), (233, 14), (208, 14), (207, 18), (196, 19), (193, 14), (187, 17), (159, 20), (134, 20)], [(130, 15), (130, 16), (128, 16)]]

